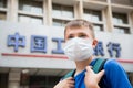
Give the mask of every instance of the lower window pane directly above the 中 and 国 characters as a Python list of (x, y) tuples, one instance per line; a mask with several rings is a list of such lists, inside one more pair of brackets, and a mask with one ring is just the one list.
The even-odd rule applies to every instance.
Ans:
[(42, 24), (42, 19), (20, 14), (19, 15), (19, 22)]

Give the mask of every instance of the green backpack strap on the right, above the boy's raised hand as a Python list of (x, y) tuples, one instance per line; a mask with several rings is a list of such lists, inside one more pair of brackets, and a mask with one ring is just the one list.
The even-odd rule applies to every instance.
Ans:
[(96, 58), (96, 62), (92, 67), (93, 72), (99, 73), (100, 70), (102, 70), (105, 62), (106, 59), (104, 58)]

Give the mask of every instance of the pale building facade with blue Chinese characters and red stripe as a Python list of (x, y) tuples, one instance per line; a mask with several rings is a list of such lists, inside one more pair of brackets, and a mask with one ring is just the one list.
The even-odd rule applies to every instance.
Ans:
[(75, 68), (66, 22), (94, 24), (95, 56), (115, 58), (133, 85), (133, 0), (0, 0), (0, 88), (52, 88)]

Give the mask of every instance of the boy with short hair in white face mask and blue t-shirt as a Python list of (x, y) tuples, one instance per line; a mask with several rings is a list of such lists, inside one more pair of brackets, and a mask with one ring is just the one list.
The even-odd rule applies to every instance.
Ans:
[(64, 40), (64, 54), (75, 62), (76, 68), (73, 77), (61, 80), (54, 88), (132, 88), (124, 69), (115, 59), (108, 59), (98, 74), (91, 69), (95, 63), (93, 50), (98, 41), (90, 22), (69, 22)]

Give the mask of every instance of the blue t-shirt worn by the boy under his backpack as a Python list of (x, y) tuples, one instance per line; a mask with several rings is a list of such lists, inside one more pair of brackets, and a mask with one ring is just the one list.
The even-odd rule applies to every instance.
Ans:
[[(93, 66), (94, 63), (92, 61), (90, 65)], [(105, 73), (99, 84), (100, 88), (132, 88), (125, 70), (115, 59), (108, 59), (103, 68)], [(84, 73), (85, 69), (74, 77), (75, 88), (85, 88)]]

